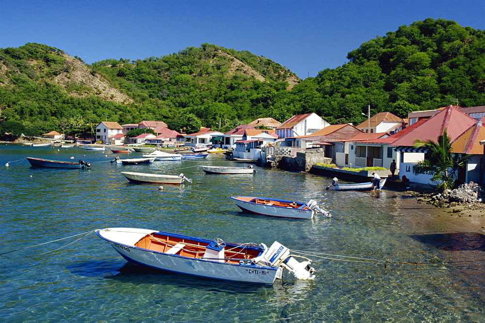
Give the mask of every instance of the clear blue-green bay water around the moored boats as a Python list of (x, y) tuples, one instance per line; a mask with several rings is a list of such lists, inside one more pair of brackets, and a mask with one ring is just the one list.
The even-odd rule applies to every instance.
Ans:
[[(36, 169), (25, 157), (74, 157), (92, 167)], [(429, 212), (396, 192), (325, 191), (331, 179), (311, 174), (257, 167), (254, 175), (206, 175), (196, 166), (235, 165), (217, 155), (137, 166), (111, 164), (114, 157), (109, 150), (1, 144), (0, 253), (127, 226), (231, 242), (276, 240), (295, 250), (349, 257), (485, 258), (480, 235), (442, 232), (432, 221), (415, 220)], [(120, 171), (183, 172), (193, 183), (159, 191), (158, 185), (129, 183)], [(333, 218), (251, 215), (239, 211), (232, 195), (315, 199)], [(298, 281), (285, 272), (273, 286), (258, 286), (154, 272), (127, 263), (94, 233), (74, 242), (78, 238), (0, 257), (2, 321), (485, 321), (484, 269), (469, 263), (385, 267), (309, 257), (315, 280)]]

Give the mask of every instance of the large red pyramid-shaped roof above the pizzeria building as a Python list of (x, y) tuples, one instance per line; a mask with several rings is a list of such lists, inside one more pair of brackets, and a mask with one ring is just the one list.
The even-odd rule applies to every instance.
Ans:
[[(412, 131), (402, 135), (392, 143), (395, 146), (413, 146), (416, 139), (421, 141), (438, 139), (446, 129), (448, 136), (453, 141), (460, 136), (465, 129), (469, 129), (476, 120), (455, 107), (446, 107), (432, 117), (425, 119)], [(414, 125), (413, 125), (414, 126)], [(404, 130), (403, 130), (404, 131)], [(401, 131), (397, 132), (398, 134)]]

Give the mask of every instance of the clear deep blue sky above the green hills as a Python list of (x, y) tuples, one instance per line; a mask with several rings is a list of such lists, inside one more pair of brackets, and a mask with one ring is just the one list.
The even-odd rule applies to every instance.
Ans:
[(248, 50), (300, 78), (426, 18), (485, 29), (484, 0), (0, 0), (0, 48), (40, 43), (91, 64), (203, 43)]

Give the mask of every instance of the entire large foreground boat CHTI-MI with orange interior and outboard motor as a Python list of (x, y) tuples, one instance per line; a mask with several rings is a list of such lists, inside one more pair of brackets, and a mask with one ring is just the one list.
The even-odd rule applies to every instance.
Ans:
[(273, 242), (232, 243), (176, 233), (115, 227), (96, 230), (123, 258), (164, 271), (255, 284), (273, 284), (287, 269), (297, 279), (314, 279), (311, 260), (302, 262), (290, 250)]

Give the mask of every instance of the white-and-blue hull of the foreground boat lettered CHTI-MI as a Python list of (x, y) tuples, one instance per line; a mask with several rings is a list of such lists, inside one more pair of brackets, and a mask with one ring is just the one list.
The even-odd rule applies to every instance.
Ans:
[[(123, 235), (111, 234), (112, 232), (104, 230), (123, 231)], [(110, 228), (104, 230), (97, 231), (97, 235), (101, 239), (111, 243), (114, 250), (123, 258), (145, 266), (173, 273), (256, 284), (273, 284), (276, 278), (281, 278), (282, 269), (279, 267), (261, 266), (252, 264), (249, 261), (248, 264), (234, 264), (215, 260), (188, 258), (134, 246), (137, 241), (147, 234), (154, 234), (160, 231), (133, 228)], [(131, 233), (129, 231), (134, 232)], [(168, 232), (161, 233), (170, 235)], [(186, 237), (189, 240), (194, 239), (189, 236), (177, 236)], [(205, 239), (199, 238), (197, 240), (201, 242), (206, 241)], [(212, 241), (207, 240), (207, 243), (212, 243)], [(226, 248), (235, 246), (239, 246), (239, 244), (226, 244)]]

